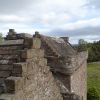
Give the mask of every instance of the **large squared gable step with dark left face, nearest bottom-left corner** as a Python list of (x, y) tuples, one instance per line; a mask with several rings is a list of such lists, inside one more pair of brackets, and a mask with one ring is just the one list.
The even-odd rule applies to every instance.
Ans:
[(10, 76), (4, 80), (6, 93), (14, 94), (23, 89), (24, 80), (22, 77)]

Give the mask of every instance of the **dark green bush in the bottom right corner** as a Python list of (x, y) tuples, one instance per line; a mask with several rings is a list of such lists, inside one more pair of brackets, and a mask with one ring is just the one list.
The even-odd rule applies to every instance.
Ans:
[(88, 89), (87, 100), (100, 100), (99, 93), (95, 87)]

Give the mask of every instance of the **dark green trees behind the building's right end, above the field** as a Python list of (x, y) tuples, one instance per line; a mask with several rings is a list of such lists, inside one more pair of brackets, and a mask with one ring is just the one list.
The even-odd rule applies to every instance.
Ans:
[(100, 61), (100, 41), (88, 43), (80, 39), (78, 46), (75, 47), (79, 52), (88, 51), (88, 62)]

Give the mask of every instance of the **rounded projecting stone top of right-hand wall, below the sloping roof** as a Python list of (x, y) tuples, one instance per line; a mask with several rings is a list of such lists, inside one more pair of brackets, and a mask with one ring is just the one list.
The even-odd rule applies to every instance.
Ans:
[(62, 63), (62, 68), (53, 68), (52, 71), (60, 72), (65, 75), (73, 74), (81, 65), (87, 61), (88, 52), (79, 52), (74, 56), (68, 57), (68, 59)]

